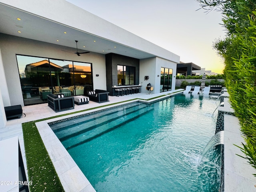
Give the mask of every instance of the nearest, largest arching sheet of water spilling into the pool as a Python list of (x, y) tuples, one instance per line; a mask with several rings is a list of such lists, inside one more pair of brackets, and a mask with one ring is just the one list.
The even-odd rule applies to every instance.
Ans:
[(202, 159), (204, 158), (204, 156), (214, 147), (217, 145), (223, 144), (224, 145), (224, 131), (219, 131), (217, 132), (211, 139), (210, 141), (207, 143), (207, 145), (205, 146), (202, 155), (200, 156), (199, 160), (198, 160), (198, 165), (201, 163)]

